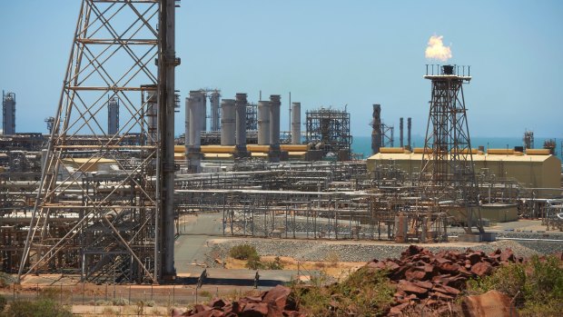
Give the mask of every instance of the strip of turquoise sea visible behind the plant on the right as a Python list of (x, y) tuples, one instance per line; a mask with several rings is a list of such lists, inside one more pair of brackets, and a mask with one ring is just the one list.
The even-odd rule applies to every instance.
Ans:
[[(563, 156), (561, 155), (561, 148), (563, 147), (563, 139), (561, 138), (550, 138), (550, 137), (535, 137), (534, 138), (534, 148), (543, 148), (544, 141), (552, 139), (555, 140), (556, 148), (555, 152), (559, 160), (563, 161)], [(412, 147), (423, 147), (424, 137), (421, 135), (412, 135), (410, 140)], [(406, 143), (406, 138), (405, 138)], [(478, 148), (482, 145), (485, 150), (487, 149), (513, 149), (514, 146), (523, 146), (522, 137), (472, 137), (471, 147)], [(399, 146), (399, 140), (395, 139), (394, 146)], [(363, 158), (368, 158), (371, 156), (371, 136), (354, 136), (352, 138), (352, 153), (363, 154)]]

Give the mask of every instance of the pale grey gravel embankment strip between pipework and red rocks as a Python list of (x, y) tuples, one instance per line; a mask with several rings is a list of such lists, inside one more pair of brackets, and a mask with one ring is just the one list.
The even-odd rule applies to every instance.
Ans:
[[(334, 243), (326, 241), (296, 241), (296, 240), (264, 240), (264, 239), (230, 239), (216, 241), (212, 246), (215, 257), (225, 258), (232, 246), (251, 244), (262, 256), (290, 256), (300, 261), (325, 261), (329, 254), (337, 254), (340, 261), (368, 262), (372, 259), (399, 258), (408, 245), (395, 243)], [(420, 244), (425, 246), (424, 244)], [(559, 242), (517, 242), (502, 240), (495, 243), (464, 244), (443, 243), (426, 245), (430, 251), (437, 253), (441, 250), (465, 251), (468, 246), (474, 251), (491, 253), (497, 249), (506, 248), (523, 257), (532, 254), (546, 254), (563, 252), (563, 243)], [(211, 263), (210, 263), (211, 264)]]

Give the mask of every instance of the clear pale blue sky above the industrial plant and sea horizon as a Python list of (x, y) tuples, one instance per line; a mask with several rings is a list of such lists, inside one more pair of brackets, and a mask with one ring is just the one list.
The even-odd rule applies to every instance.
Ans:
[[(16, 131), (46, 132), (54, 115), (80, 0), (0, 1), (0, 89), (16, 94)], [(371, 104), (386, 124), (412, 117), (424, 134), (431, 35), (465, 87), (474, 136), (563, 137), (563, 1), (183, 0), (177, 10), (176, 88), (220, 88), (250, 101), (288, 94), (305, 110), (347, 108), (354, 135), (370, 135)], [(176, 133), (183, 133), (183, 109)], [(406, 121), (406, 119), (405, 119)], [(304, 127), (303, 127), (304, 130)]]

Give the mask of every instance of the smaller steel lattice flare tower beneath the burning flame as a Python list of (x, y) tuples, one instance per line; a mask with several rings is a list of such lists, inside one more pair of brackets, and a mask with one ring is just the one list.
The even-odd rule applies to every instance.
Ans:
[[(420, 167), (420, 189), (436, 203), (465, 208), (470, 228), (471, 208), (477, 204), (477, 185), (463, 84), (464, 66), (442, 65), (424, 76), (432, 82), (430, 113)], [(459, 74), (462, 70), (462, 74)], [(434, 74), (436, 73), (436, 74)], [(481, 230), (479, 228), (479, 230)]]

